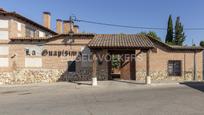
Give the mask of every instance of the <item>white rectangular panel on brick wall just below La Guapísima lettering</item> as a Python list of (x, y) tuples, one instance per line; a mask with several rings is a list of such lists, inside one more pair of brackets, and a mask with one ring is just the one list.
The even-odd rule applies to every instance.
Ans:
[(25, 67), (42, 67), (42, 58), (25, 58)]

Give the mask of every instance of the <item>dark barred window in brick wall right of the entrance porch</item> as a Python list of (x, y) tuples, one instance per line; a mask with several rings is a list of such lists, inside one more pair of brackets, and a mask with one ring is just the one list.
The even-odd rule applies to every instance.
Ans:
[(169, 76), (181, 76), (181, 61), (180, 60), (168, 61), (168, 74)]

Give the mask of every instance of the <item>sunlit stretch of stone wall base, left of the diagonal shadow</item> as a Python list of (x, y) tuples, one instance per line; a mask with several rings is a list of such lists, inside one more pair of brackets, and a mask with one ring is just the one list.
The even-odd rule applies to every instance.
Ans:
[(64, 80), (63, 70), (16, 70), (0, 73), (0, 84), (30, 84)]

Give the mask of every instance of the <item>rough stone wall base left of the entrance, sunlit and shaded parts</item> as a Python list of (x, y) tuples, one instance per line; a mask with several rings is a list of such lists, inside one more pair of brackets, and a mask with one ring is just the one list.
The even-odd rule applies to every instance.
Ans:
[(92, 68), (81, 68), (77, 72), (58, 69), (21, 69), (0, 73), (0, 84), (31, 84), (57, 81), (88, 81), (92, 78)]

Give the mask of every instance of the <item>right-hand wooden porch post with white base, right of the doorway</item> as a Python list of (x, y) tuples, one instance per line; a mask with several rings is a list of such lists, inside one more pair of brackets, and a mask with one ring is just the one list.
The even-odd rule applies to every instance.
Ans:
[(149, 61), (150, 61), (150, 50), (148, 49), (147, 50), (147, 53), (146, 53), (146, 81), (145, 83), (146, 84), (151, 84), (151, 77), (149, 75), (149, 69), (150, 69), (150, 64), (149, 64)]

